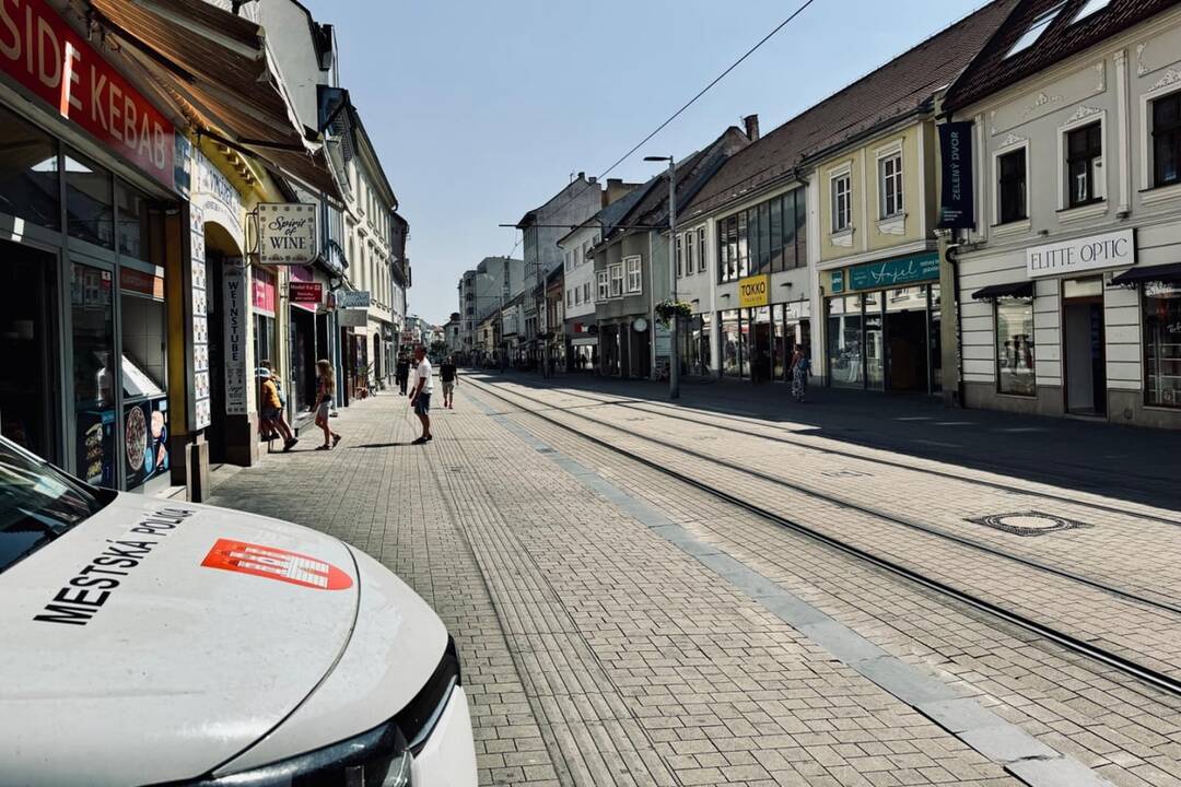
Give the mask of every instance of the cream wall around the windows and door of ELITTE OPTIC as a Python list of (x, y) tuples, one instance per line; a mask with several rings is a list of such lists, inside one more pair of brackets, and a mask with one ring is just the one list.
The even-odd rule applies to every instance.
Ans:
[[(1026, 250), (1131, 229), (1135, 267), (1181, 260), (1181, 185), (1154, 189), (1151, 101), (1181, 91), (1181, 11), (1113, 37), (1053, 68), (958, 113), (977, 123), (977, 224), (960, 255), (965, 398), (970, 406), (1062, 414), (1070, 385), (1063, 280), (1102, 276), (1107, 418), (1181, 428), (1181, 409), (1146, 406), (1143, 307), (1138, 287), (1113, 286), (1127, 264), (1035, 280), (1036, 396), (998, 393), (997, 326), (988, 284), (1029, 281)], [(1101, 124), (1095, 204), (1069, 208), (1065, 135)], [(1026, 151), (1029, 218), (999, 225), (997, 158)]]

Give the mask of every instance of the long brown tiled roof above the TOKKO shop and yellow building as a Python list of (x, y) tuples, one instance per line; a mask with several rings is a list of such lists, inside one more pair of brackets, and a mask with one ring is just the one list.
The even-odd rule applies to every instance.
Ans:
[(993, 0), (736, 153), (689, 204), (685, 218), (789, 177), (803, 158), (922, 109), (959, 76), (1018, 1)]

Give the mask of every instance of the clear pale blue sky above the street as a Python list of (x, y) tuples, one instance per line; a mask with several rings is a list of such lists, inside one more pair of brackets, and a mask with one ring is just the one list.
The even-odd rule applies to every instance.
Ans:
[[(802, 1), (305, 0), (410, 221), (411, 313), (446, 321), (458, 276), (516, 243), (498, 224), (602, 173)], [(816, 0), (612, 177), (744, 114), (766, 133), (983, 4)]]

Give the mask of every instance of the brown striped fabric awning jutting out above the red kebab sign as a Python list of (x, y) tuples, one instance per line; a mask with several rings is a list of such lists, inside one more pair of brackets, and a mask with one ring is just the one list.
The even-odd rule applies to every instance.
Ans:
[(99, 24), (210, 138), (340, 201), (322, 145), (295, 116), (262, 28), (205, 2), (90, 0)]

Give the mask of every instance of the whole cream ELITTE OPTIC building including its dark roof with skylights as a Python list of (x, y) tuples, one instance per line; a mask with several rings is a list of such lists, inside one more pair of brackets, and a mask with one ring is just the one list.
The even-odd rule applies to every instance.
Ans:
[(1181, 9), (1029, 2), (948, 93), (971, 407), (1181, 427)]

